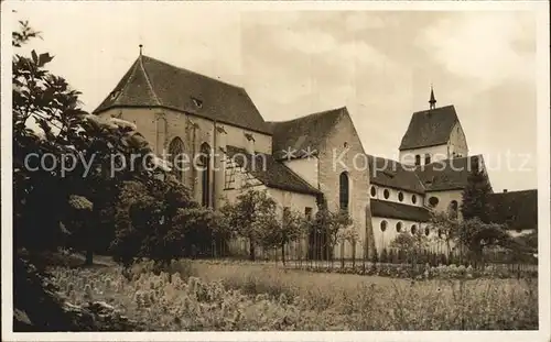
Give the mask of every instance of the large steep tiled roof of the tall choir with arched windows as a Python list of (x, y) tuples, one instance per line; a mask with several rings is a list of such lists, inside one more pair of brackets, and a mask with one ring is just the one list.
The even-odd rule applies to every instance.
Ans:
[(270, 133), (244, 88), (142, 55), (94, 112), (121, 107), (169, 108)]

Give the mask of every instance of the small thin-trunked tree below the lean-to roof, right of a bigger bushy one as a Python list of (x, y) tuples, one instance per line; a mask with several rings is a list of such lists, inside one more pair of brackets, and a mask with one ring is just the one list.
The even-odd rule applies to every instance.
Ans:
[(305, 220), (302, 216), (289, 208), (283, 209), (281, 220), (270, 217), (274, 222), (267, 222), (262, 238), (262, 245), (266, 247), (280, 247), (281, 260), (285, 264), (285, 245), (302, 238), (305, 231)]

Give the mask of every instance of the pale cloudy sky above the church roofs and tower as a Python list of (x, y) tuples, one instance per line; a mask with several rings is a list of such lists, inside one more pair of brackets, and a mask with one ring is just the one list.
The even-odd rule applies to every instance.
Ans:
[[(139, 55), (244, 87), (267, 121), (346, 107), (368, 154), (398, 158), (411, 114), (453, 104), (495, 191), (537, 187), (536, 15), (238, 11), (186, 2), (17, 2), (22, 48), (94, 110)], [(15, 27), (15, 26), (14, 26)]]

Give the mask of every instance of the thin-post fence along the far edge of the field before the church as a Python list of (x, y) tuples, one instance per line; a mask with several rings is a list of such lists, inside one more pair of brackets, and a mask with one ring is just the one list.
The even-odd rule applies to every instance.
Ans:
[(216, 258), (274, 263), (289, 268), (356, 268), (401, 265), (404, 267), (463, 265), (475, 269), (488, 266), (509, 272), (537, 272), (538, 260), (528, 253), (509, 250), (487, 250), (476, 255), (466, 249), (449, 251), (437, 244), (409, 251), (387, 247), (375, 250), (363, 242), (338, 241), (331, 243), (326, 236), (304, 236), (282, 246), (255, 245), (248, 239), (213, 240), (212, 247), (196, 251), (193, 258)]

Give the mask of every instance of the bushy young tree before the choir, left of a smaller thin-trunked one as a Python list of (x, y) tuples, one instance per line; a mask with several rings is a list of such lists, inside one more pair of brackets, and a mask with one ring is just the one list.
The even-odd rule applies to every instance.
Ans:
[(256, 258), (256, 247), (266, 241), (266, 233), (278, 230), (276, 209), (276, 201), (266, 190), (250, 188), (239, 194), (234, 202), (226, 202), (220, 208), (235, 234), (248, 239), (251, 261)]

